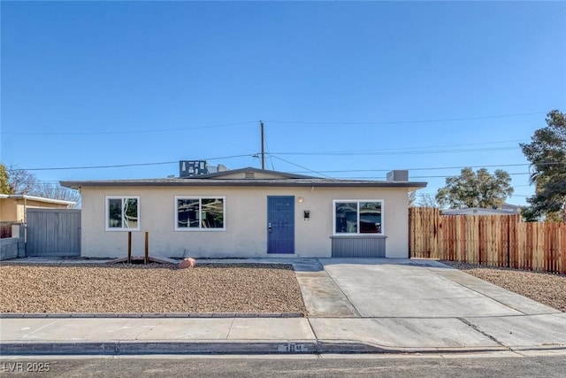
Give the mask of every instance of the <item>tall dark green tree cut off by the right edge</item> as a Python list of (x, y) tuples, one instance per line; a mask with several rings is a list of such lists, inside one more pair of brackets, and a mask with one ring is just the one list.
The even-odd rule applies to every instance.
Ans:
[(566, 117), (554, 110), (546, 120), (547, 126), (534, 132), (531, 143), (521, 143), (532, 164), (531, 182), (536, 184), (523, 215), (527, 220), (566, 222)]

